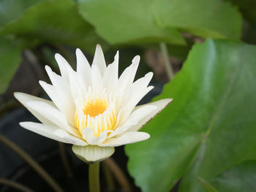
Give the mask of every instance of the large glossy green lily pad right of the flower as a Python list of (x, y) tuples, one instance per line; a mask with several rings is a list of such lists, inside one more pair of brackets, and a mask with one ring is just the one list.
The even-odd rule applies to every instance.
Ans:
[(143, 129), (151, 139), (126, 147), (128, 169), (143, 191), (203, 191), (210, 181), (256, 158), (256, 47), (207, 40), (195, 45), (158, 99), (173, 98)]

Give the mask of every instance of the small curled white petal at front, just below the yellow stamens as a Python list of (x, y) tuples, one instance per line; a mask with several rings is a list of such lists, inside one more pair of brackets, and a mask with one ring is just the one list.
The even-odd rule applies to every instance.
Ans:
[(86, 127), (83, 130), (83, 139), (89, 143), (89, 145), (99, 145), (100, 143), (104, 142), (107, 139), (107, 134), (111, 131), (103, 131), (99, 134), (99, 137), (94, 136), (94, 131), (90, 127)]

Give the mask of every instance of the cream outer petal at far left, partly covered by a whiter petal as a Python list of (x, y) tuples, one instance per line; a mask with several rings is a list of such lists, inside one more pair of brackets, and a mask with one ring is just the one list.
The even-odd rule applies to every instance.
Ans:
[(27, 105), (27, 102), (29, 101), (42, 101), (45, 102), (46, 104), (51, 105), (52, 107), (55, 107), (55, 104), (53, 104), (53, 101), (49, 101), (46, 99), (41, 99), (37, 96), (31, 96), (29, 94), (26, 93), (19, 93), (19, 92), (15, 92), (14, 96), (16, 99), (18, 99), (18, 101), (20, 101), (21, 104), (23, 104), (39, 121), (41, 121), (42, 123), (45, 124), (49, 124), (49, 125), (53, 125), (53, 123), (48, 120), (47, 118), (45, 118), (43, 115), (41, 115), (39, 112), (32, 110), (31, 108), (29, 108), (29, 106)]

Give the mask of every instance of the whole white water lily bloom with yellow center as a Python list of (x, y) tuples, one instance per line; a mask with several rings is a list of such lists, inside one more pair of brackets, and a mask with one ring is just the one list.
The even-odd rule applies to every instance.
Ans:
[(148, 139), (149, 134), (138, 130), (172, 99), (135, 107), (153, 88), (148, 87), (152, 72), (133, 82), (140, 57), (135, 56), (118, 78), (118, 52), (108, 67), (99, 45), (91, 66), (79, 49), (76, 56), (77, 72), (59, 54), (55, 57), (61, 76), (45, 66), (53, 85), (39, 84), (52, 101), (15, 93), (16, 99), (41, 121), (22, 122), (20, 126), (72, 144), (74, 153), (87, 162), (108, 158), (116, 146)]

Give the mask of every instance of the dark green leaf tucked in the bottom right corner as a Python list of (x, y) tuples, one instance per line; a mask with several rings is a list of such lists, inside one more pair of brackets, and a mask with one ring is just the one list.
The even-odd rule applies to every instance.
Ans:
[(212, 182), (219, 192), (255, 192), (256, 161), (245, 161), (219, 175)]

